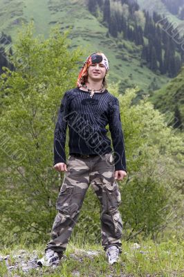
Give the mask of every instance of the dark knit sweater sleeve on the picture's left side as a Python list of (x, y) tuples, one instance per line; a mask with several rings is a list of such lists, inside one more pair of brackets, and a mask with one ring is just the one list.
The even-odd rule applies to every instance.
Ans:
[(68, 98), (64, 93), (59, 112), (57, 116), (57, 123), (54, 132), (54, 163), (66, 163), (65, 143), (66, 143), (66, 128), (68, 115)]

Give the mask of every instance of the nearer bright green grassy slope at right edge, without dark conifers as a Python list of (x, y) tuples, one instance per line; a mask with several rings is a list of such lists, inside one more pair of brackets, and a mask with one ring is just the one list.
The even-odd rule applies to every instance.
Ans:
[(182, 122), (184, 122), (184, 67), (176, 78), (171, 80), (169, 84), (154, 92), (149, 99), (154, 103), (155, 107), (166, 113), (174, 111), (177, 104), (181, 111)]

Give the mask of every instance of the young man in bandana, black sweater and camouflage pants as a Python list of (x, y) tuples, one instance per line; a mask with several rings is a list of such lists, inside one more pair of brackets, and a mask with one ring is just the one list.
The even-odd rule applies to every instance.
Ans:
[[(58, 264), (77, 222), (89, 185), (102, 205), (102, 247), (109, 264), (122, 253), (122, 219), (118, 180), (127, 175), (125, 146), (118, 98), (107, 91), (105, 76), (109, 71), (103, 53), (91, 54), (82, 67), (77, 87), (64, 93), (55, 126), (54, 168), (64, 172), (57, 197), (57, 215), (45, 256), (38, 265)], [(111, 140), (107, 137), (109, 124)], [(66, 161), (66, 127), (69, 127), (69, 157)]]

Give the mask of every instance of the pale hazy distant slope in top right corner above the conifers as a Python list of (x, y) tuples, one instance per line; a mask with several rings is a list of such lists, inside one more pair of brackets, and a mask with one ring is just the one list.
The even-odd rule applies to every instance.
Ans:
[(181, 33), (184, 34), (184, 21), (178, 19), (178, 17), (176, 17), (175, 15), (172, 15), (172, 13), (167, 10), (167, 7), (163, 4), (161, 0), (138, 0), (138, 4), (140, 6), (140, 9), (142, 10), (149, 10), (149, 12), (156, 11), (160, 15), (165, 15), (166, 17), (169, 17), (169, 21), (172, 21), (174, 23), (174, 26), (178, 26), (179, 30), (181, 30)]

